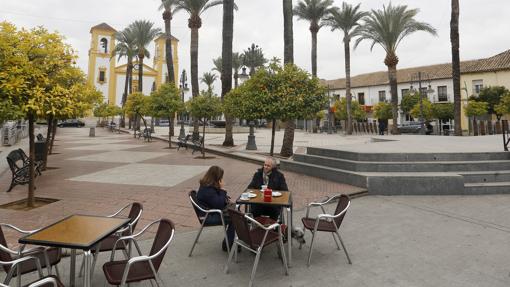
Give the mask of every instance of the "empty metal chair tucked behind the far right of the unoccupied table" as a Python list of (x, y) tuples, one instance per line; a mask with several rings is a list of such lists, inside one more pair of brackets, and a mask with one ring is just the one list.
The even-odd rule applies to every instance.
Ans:
[[(135, 227), (138, 224), (138, 220), (140, 219), (140, 217), (142, 217), (143, 205), (141, 203), (133, 202), (133, 203), (127, 204), (126, 206), (122, 207), (114, 214), (108, 215), (107, 217), (116, 217), (130, 206), (131, 206), (131, 209), (129, 210), (129, 215), (128, 215), (128, 218), (130, 219), (130, 221), (129, 221), (128, 226), (118, 230), (115, 234), (112, 234), (112, 235), (108, 236), (107, 238), (105, 238), (104, 240), (102, 240), (98, 246), (99, 250), (96, 250), (96, 249), (91, 250), (91, 252), (94, 254), (94, 257), (92, 260), (92, 266), (90, 269), (91, 274), (94, 274), (94, 268), (96, 266), (97, 257), (100, 252), (112, 251), (113, 246), (115, 245), (115, 242), (117, 242), (117, 240), (120, 237), (129, 236), (129, 235), (133, 234), (133, 231), (135, 230)], [(129, 244), (129, 246), (130, 246), (130, 244)], [(124, 255), (126, 256), (126, 259), (129, 259), (130, 252), (131, 252), (130, 247), (123, 244), (123, 245), (119, 246), (117, 249), (122, 250), (124, 252)], [(80, 274), (79, 274), (80, 277), (83, 276), (83, 270), (84, 270), (83, 263), (85, 263), (85, 256), (83, 256), (82, 264), (80, 267)]]

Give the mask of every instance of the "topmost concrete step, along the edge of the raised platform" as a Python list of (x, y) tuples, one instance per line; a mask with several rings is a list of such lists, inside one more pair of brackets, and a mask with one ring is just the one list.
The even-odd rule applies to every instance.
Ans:
[(335, 149), (308, 147), (307, 154), (353, 161), (382, 162), (421, 162), (421, 161), (486, 161), (510, 160), (508, 152), (472, 152), (472, 153), (369, 153), (350, 152)]

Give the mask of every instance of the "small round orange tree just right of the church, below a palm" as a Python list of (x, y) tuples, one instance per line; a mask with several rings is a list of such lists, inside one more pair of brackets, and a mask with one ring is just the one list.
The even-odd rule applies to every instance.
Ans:
[[(158, 90), (151, 94), (150, 110), (155, 117), (165, 117), (171, 123), (175, 113), (182, 112), (184, 103), (181, 101), (181, 92), (175, 84), (163, 84)], [(168, 147), (172, 147), (171, 134), (173, 124), (168, 125)]]

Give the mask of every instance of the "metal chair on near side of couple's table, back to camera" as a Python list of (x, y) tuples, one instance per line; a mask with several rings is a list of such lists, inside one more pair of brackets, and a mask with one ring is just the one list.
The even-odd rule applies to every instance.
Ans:
[[(251, 271), (250, 283), (248, 285), (251, 287), (253, 285), (253, 279), (255, 278), (255, 273), (257, 271), (262, 249), (270, 244), (278, 242), (280, 254), (282, 255), (285, 275), (289, 275), (287, 257), (285, 256), (285, 250), (283, 248), (281, 225), (274, 223), (265, 227), (255, 219), (238, 210), (229, 209), (228, 212), (232, 220), (232, 224), (235, 226), (237, 236), (234, 240), (234, 245), (232, 245), (232, 248), (230, 249), (228, 261), (225, 265), (225, 273), (228, 273), (229, 264), (230, 261), (232, 261), (234, 254), (236, 256), (237, 262), (237, 246), (248, 249), (250, 252), (256, 254), (255, 262), (253, 263), (253, 269)], [(252, 224), (254, 227), (250, 228), (250, 224)]]

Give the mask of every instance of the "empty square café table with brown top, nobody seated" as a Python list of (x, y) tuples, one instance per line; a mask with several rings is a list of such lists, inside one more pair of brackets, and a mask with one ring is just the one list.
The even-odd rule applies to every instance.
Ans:
[(83, 250), (85, 256), (85, 275), (83, 286), (91, 286), (91, 249), (129, 223), (129, 218), (110, 218), (93, 215), (71, 215), (55, 222), (35, 233), (19, 239), (21, 244), (32, 244), (71, 249), (71, 270), (69, 285), (74, 285), (76, 269), (76, 250)]

